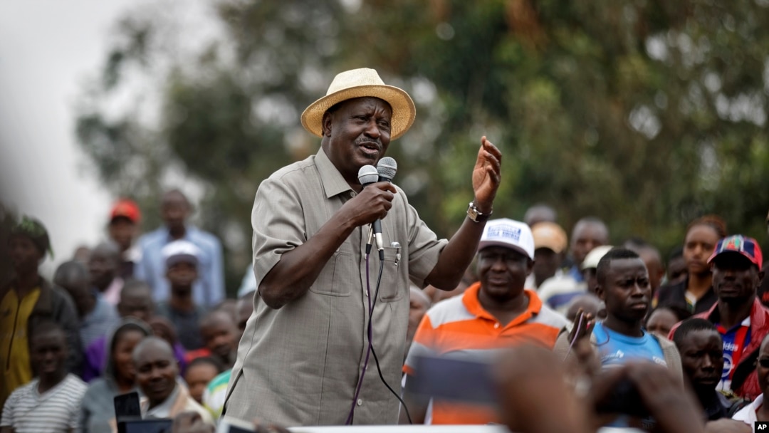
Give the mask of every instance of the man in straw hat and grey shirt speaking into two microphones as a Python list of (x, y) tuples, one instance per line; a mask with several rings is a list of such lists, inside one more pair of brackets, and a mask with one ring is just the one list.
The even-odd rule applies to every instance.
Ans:
[[(256, 193), (251, 225), (261, 300), (240, 341), (225, 418), (285, 426), (398, 422), (398, 398), (369, 351), (384, 382), (398, 390), (409, 278), (443, 290), (458, 285), (491, 215), (502, 157), (481, 138), (468, 218), (451, 240), (438, 239), (397, 185), (363, 188), (358, 180), (359, 169), (376, 166), (415, 115), (408, 93), (368, 68), (338, 74), (302, 113), (321, 148), (273, 173)], [(376, 219), (384, 261), (365, 254)]]

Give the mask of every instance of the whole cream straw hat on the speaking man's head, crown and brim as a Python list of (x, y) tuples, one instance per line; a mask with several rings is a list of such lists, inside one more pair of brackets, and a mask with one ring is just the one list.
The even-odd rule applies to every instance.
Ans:
[(323, 115), (328, 108), (338, 102), (352, 98), (372, 96), (380, 98), (392, 108), (390, 121), (390, 138), (404, 135), (417, 115), (417, 109), (411, 97), (403, 89), (392, 85), (385, 85), (374, 69), (359, 68), (340, 72), (334, 77), (334, 81), (328, 86), (328, 92), (323, 98), (310, 104), (305, 112), (301, 113), (301, 125), (311, 134), (323, 136)]

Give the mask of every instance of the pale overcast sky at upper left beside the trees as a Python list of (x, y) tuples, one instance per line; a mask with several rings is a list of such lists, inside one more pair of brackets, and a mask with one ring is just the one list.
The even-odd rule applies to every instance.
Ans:
[(55, 252), (105, 236), (112, 197), (85, 169), (73, 107), (105, 58), (109, 31), (138, 0), (0, 2), (0, 199), (39, 218)]

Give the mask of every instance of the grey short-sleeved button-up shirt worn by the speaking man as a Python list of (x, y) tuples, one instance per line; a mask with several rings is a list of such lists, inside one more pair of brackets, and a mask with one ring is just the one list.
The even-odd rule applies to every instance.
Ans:
[[(315, 235), (354, 195), (322, 149), (262, 182), (251, 214), (257, 285), (281, 254)], [(408, 325), (408, 280), (424, 285), (447, 241), (438, 240), (424, 225), (400, 188), (392, 204), (382, 220), (384, 271), (372, 340), (382, 375), (398, 391)], [(286, 426), (345, 423), (368, 348), (367, 237), (368, 226), (356, 228), (301, 298), (278, 310), (255, 302), (238, 348), (226, 415)], [(390, 247), (393, 241), (400, 243), (399, 251)], [(368, 265), (371, 296), (380, 266), (375, 251)], [(398, 252), (401, 258), (396, 264)], [(398, 421), (398, 400), (381, 383), (373, 356), (354, 421)]]

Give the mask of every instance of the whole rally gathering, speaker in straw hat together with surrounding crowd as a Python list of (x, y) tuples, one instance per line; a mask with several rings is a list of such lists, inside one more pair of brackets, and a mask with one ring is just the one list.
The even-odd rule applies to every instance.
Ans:
[(769, 421), (756, 239), (705, 215), (664, 256), (592, 216), (568, 234), (544, 204), (521, 221), (491, 218), (502, 155), (485, 137), (468, 217), (440, 239), (391, 176), (358, 178), (414, 116), (371, 69), (335, 78), (301, 116), (321, 137), (317, 155), (258, 188), (253, 271), (237, 299), (225, 297), (221, 243), (188, 223), (177, 189), (162, 196), (165, 225), (143, 235), (138, 206), (118, 200), (108, 238), (52, 281), (38, 271), (48, 231), (23, 217), (0, 288), (0, 432), (117, 431), (113, 399), (134, 391), (143, 418), (173, 418), (179, 432), (255, 418), (255, 431), (522, 433)]

